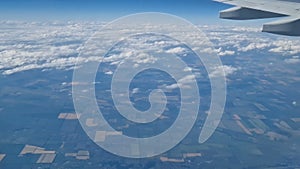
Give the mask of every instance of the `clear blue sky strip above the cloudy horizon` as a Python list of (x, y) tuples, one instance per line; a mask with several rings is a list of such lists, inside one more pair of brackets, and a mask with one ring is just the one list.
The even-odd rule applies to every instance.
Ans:
[(211, 0), (1, 0), (1, 20), (109, 21), (137, 12), (165, 12), (214, 22), (227, 6)]

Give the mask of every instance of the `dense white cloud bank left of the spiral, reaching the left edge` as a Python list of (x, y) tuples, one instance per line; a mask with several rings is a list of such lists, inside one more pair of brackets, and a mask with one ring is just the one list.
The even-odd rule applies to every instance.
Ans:
[[(3, 26), (0, 30), (0, 69), (6, 75), (37, 68), (74, 66), (79, 47), (92, 31), (83, 31), (84, 23), (71, 22), (2, 22), (0, 26)], [(8, 33), (6, 29), (13, 31)]]

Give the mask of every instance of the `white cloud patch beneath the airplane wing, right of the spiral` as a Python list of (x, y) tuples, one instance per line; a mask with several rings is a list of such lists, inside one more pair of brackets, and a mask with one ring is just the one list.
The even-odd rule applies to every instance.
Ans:
[[(300, 40), (286, 36), (263, 34), (260, 27), (210, 26), (201, 27), (218, 48), (231, 47), (239, 52), (271, 52), (283, 55), (300, 53)], [(219, 51), (221, 52), (221, 51)]]

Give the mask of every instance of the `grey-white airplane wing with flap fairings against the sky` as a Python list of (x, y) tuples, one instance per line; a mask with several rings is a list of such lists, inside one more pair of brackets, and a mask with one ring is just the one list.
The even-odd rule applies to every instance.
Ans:
[(263, 25), (263, 32), (300, 36), (300, 0), (214, 0), (236, 7), (220, 12), (220, 18), (234, 20), (284, 17)]

